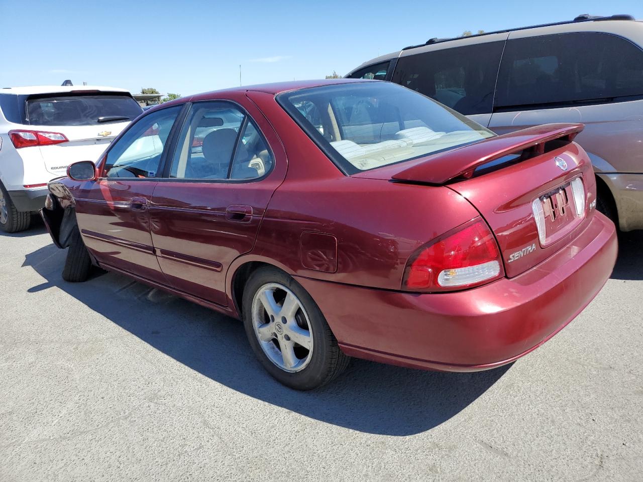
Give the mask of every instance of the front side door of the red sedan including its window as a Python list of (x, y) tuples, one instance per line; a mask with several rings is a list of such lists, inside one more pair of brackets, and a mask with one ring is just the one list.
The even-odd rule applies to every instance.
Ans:
[(76, 199), (80, 233), (98, 262), (164, 284), (150, 237), (149, 202), (181, 108), (161, 109), (134, 123), (107, 151), (101, 177)]

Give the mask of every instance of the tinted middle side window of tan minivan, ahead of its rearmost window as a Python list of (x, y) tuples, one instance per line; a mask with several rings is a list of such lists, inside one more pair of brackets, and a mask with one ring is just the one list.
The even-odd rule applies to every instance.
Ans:
[(487, 42), (400, 57), (392, 81), (461, 114), (489, 114), (505, 42)]

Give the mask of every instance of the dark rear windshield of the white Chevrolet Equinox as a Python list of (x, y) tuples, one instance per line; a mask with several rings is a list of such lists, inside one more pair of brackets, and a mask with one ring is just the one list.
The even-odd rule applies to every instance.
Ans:
[(28, 123), (31, 125), (96, 125), (126, 122), (143, 110), (125, 94), (73, 94), (28, 98)]

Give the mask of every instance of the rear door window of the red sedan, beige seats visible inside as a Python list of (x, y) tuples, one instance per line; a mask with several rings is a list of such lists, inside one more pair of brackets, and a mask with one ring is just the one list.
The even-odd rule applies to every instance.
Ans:
[(244, 112), (228, 102), (197, 102), (179, 134), (170, 177), (257, 179), (271, 166), (266, 142)]

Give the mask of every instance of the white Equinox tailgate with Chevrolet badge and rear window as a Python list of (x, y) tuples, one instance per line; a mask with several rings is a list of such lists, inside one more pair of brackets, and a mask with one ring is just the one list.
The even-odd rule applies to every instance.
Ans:
[(57, 132), (68, 141), (41, 146), (45, 168), (65, 175), (76, 161), (98, 161), (109, 143), (141, 114), (141, 107), (127, 93), (72, 91), (27, 96), (26, 121), (33, 130)]

